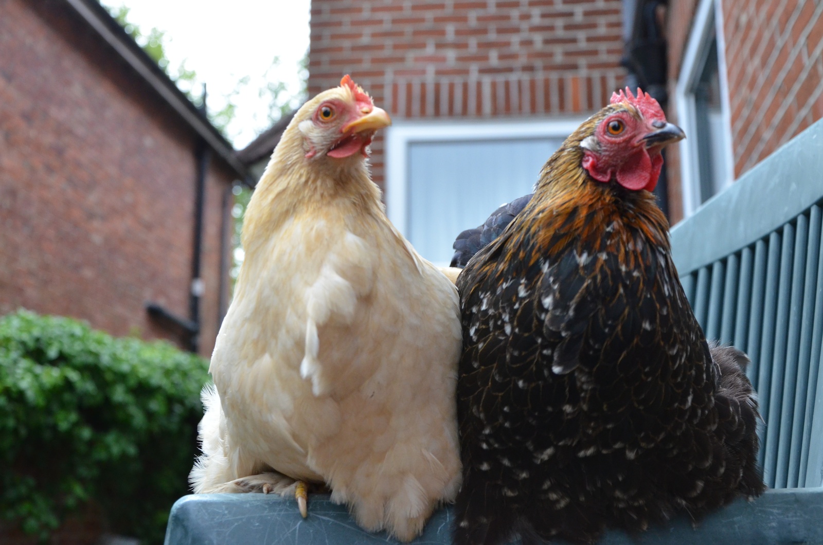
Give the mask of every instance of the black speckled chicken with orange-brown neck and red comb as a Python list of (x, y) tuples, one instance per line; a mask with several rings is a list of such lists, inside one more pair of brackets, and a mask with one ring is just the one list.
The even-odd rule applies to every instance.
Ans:
[(650, 193), (683, 136), (614, 95), (458, 277), (457, 545), (590, 543), (764, 490), (748, 360), (706, 342)]

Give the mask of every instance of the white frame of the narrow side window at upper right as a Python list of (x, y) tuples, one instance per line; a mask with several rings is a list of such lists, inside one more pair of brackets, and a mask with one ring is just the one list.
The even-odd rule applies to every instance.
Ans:
[(726, 161), (725, 179), (720, 184), (721, 189), (728, 187), (734, 181), (734, 152), (732, 149), (732, 119), (731, 106), (728, 99), (728, 72), (726, 70), (726, 42), (723, 39), (723, 9), (718, 0), (700, 0), (695, 12), (695, 21), (692, 26), (686, 51), (683, 54), (683, 63), (680, 77), (677, 78), (675, 100), (677, 101), (677, 120), (681, 124), (686, 139), (680, 142), (680, 170), (681, 195), (683, 198), (683, 217), (689, 217), (700, 207), (700, 163), (698, 162), (697, 138), (689, 137), (697, 134), (695, 116), (695, 98), (690, 92), (700, 77), (700, 69), (709, 47), (709, 33), (714, 25), (717, 39), (718, 72), (720, 83), (720, 108), (723, 117), (723, 134), (721, 146), (728, 157)]

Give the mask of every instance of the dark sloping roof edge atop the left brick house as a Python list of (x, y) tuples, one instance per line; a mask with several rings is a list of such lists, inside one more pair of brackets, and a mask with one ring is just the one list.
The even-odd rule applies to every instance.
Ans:
[(126, 63), (148, 83), (195, 133), (235, 170), (240, 179), (248, 172), (235, 148), (212, 125), (197, 106), (180, 91), (171, 78), (143, 51), (98, 0), (65, 0)]

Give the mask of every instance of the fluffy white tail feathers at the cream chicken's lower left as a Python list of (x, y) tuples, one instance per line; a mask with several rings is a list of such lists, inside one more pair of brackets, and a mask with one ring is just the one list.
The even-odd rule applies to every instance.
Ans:
[(206, 384), (200, 393), (203, 417), (198, 424), (198, 443), (202, 454), (194, 460), (188, 473), (188, 482), (195, 494), (205, 491), (214, 482), (230, 480), (230, 462), (226, 455), (226, 417), (220, 403), (220, 394), (214, 384)]

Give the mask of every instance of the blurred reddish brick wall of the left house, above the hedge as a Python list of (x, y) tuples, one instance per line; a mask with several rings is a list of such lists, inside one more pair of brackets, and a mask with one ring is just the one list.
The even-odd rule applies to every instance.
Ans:
[[(171, 338), (146, 301), (188, 316), (194, 133), (62, 2), (3, 0), (0, 314), (18, 307), (115, 335)], [(201, 353), (216, 337), (222, 189), (207, 179)]]

